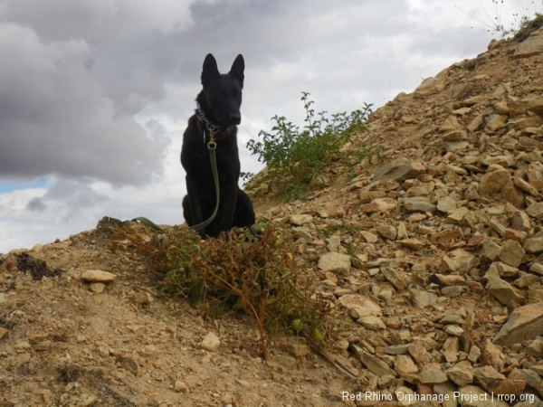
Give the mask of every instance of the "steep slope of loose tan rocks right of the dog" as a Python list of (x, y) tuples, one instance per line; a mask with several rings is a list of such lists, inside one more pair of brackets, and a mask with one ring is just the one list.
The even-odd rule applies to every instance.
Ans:
[(260, 208), (299, 232), (320, 294), (360, 326), (337, 347), (386, 400), (543, 397), (542, 63), (541, 29), (492, 41), (376, 110), (344, 150), (385, 147), (379, 163)]

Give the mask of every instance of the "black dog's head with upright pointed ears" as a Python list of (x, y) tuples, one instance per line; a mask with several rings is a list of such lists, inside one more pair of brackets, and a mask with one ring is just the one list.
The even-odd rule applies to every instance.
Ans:
[(228, 73), (220, 73), (211, 53), (205, 57), (202, 70), (205, 104), (222, 126), (238, 125), (242, 121), (243, 71), (245, 62), (240, 54), (234, 60)]

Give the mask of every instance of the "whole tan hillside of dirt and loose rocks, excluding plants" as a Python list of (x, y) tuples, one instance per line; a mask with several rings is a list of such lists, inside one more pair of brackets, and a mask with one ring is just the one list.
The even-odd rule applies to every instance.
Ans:
[(381, 159), (354, 177), (338, 161), (290, 204), (252, 191), (349, 322), (328, 349), (357, 380), (285, 333), (263, 360), (247, 318), (167, 297), (99, 223), (0, 255), (0, 406), (538, 405), (541, 66), (543, 29), (492, 41), (377, 109), (345, 149)]

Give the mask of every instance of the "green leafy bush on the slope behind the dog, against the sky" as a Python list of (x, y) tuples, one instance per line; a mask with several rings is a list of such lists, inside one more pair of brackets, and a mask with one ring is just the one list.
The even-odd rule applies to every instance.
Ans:
[[(249, 140), (247, 147), (258, 160), (267, 166), (266, 180), (278, 195), (287, 200), (305, 194), (312, 182), (332, 162), (340, 158), (339, 151), (353, 135), (367, 131), (367, 116), (371, 106), (363, 109), (328, 115), (327, 111), (315, 112), (310, 93), (302, 92), (305, 125), (299, 128), (284, 116), (275, 115), (271, 131), (261, 130), (262, 141)], [(355, 161), (378, 155), (380, 150), (363, 147), (354, 152)], [(347, 161), (352, 162), (350, 156)]]

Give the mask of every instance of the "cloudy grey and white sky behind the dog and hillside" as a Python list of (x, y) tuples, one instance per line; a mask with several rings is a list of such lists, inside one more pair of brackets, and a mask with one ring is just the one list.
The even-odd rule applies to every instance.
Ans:
[[(186, 120), (243, 53), (245, 148), (279, 114), (378, 107), (486, 50), (521, 0), (0, 0), (0, 252), (104, 215), (183, 222)], [(503, 7), (503, 8), (502, 8)], [(540, 10), (541, 7), (539, 7)], [(499, 37), (499, 34), (494, 34)]]

